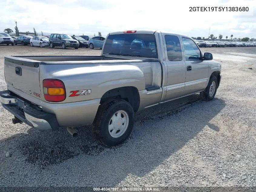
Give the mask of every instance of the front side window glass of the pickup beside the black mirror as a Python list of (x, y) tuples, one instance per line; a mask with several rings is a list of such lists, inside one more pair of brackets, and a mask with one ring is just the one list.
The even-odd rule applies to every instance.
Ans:
[(201, 60), (200, 50), (191, 39), (182, 37), (186, 61)]

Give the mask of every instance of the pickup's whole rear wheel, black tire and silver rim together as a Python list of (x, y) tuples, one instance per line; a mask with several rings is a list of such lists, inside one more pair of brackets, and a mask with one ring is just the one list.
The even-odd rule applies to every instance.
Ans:
[(99, 143), (112, 147), (123, 143), (131, 134), (134, 110), (127, 101), (116, 99), (102, 103), (92, 125)]

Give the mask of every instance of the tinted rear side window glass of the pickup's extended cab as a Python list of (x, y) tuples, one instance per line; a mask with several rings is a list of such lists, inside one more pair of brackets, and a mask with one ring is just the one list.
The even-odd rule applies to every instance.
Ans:
[(181, 61), (182, 51), (179, 38), (175, 35), (165, 35), (165, 43), (169, 61)]

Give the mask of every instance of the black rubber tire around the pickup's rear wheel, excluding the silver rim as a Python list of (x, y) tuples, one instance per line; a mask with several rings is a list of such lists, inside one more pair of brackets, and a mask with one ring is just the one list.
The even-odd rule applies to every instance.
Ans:
[[(123, 110), (128, 114), (128, 127), (121, 136), (114, 138), (110, 135), (108, 126), (111, 117), (119, 110)], [(121, 99), (111, 100), (102, 103), (99, 106), (94, 122), (92, 124), (92, 133), (99, 143), (107, 147), (112, 147), (123, 143), (130, 136), (133, 124), (134, 110), (130, 103)]]

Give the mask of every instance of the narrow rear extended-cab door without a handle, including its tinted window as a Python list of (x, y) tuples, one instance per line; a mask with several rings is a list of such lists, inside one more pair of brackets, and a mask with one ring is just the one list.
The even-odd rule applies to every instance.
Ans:
[(167, 64), (168, 78), (165, 88), (165, 100), (182, 96), (185, 88), (186, 64), (181, 49), (181, 39), (178, 35), (162, 33)]

